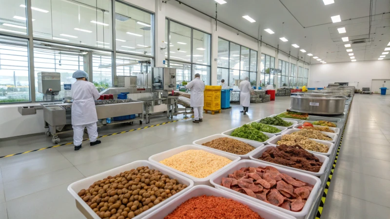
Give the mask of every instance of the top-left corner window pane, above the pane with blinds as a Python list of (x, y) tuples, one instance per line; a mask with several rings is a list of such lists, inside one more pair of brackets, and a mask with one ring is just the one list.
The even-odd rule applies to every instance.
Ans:
[(25, 4), (24, 0), (0, 0), (0, 32), (27, 35)]

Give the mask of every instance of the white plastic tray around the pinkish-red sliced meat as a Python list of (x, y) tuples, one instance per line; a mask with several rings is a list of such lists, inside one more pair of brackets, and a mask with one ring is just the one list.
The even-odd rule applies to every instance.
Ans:
[[(248, 196), (246, 194), (242, 194), (242, 193), (236, 192), (233, 189), (229, 189), (229, 188), (226, 188), (226, 187), (220, 185), (222, 183), (222, 178), (228, 177), (228, 174), (232, 174), (235, 170), (239, 170), (242, 167), (249, 167), (249, 166), (252, 166), (252, 167), (273, 166), (277, 170), (279, 170), (280, 173), (285, 173), (285, 174), (287, 174), (287, 175), (289, 175), (289, 176), (291, 176), (293, 178), (296, 178), (296, 179), (301, 180), (303, 182), (310, 183), (310, 184), (314, 185), (314, 187), (312, 189), (312, 192), (310, 193), (309, 198), (306, 201), (305, 206), (303, 206), (302, 210), (300, 212), (288, 211), (288, 210), (286, 210), (284, 208), (275, 206), (275, 205), (273, 205), (271, 203), (267, 203), (265, 201), (260, 201), (258, 199), (253, 198), (253, 197), (250, 197), (250, 196)], [(301, 173), (301, 172), (294, 171), (294, 170), (290, 170), (290, 169), (287, 169), (287, 168), (282, 168), (282, 167), (279, 167), (279, 166), (276, 166), (276, 165), (270, 165), (270, 164), (266, 164), (266, 163), (262, 163), (262, 162), (258, 162), (258, 161), (252, 161), (252, 160), (242, 160), (242, 161), (239, 161), (239, 162), (235, 163), (234, 165), (230, 166), (229, 168), (226, 168), (223, 171), (219, 172), (218, 175), (216, 175), (215, 177), (213, 177), (210, 180), (210, 182), (217, 189), (228, 191), (228, 192), (231, 192), (231, 193), (233, 193), (235, 195), (244, 197), (244, 198), (246, 198), (246, 199), (248, 199), (250, 201), (253, 201), (255, 203), (260, 203), (262, 205), (266, 205), (266, 206), (271, 207), (271, 208), (273, 208), (275, 210), (278, 210), (278, 211), (281, 211), (281, 212), (286, 213), (288, 215), (291, 215), (291, 216), (293, 216), (293, 217), (295, 217), (297, 219), (303, 219), (309, 213), (309, 209), (310, 209), (311, 205), (315, 201), (314, 199), (315, 199), (315, 197), (316, 197), (316, 195), (318, 193), (318, 189), (319, 189), (320, 184), (321, 184), (320, 179), (318, 179), (317, 177), (314, 177), (312, 175), (309, 175), (309, 174), (306, 174), (306, 173)]]

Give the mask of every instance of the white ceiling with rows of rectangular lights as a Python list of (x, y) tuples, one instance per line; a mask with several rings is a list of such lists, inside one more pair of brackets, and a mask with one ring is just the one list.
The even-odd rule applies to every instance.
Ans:
[[(183, 3), (215, 17), (214, 0), (181, 0)], [(376, 60), (390, 42), (390, 1), (373, 0), (370, 42), (345, 48), (341, 37), (350, 40), (369, 38), (369, 0), (334, 0), (324, 5), (322, 0), (226, 0), (218, 4), (218, 20), (279, 48), (293, 56), (299, 55), (312, 64), (319, 61), (306, 55), (318, 56), (327, 63), (350, 61), (346, 49), (352, 49), (357, 61)], [(242, 16), (248, 15), (251, 23)], [(340, 15), (341, 22), (332, 23), (331, 16)], [(283, 24), (284, 22), (284, 24)], [(347, 33), (339, 34), (337, 28), (345, 27)], [(271, 29), (270, 35), (264, 29)], [(279, 38), (289, 41), (282, 42)], [(236, 42), (240, 43), (240, 42)], [(297, 44), (300, 48), (291, 45)], [(299, 50), (307, 52), (302, 53)], [(299, 52), (299, 54), (298, 54)], [(313, 57), (312, 56), (312, 57)], [(385, 59), (389, 59), (386, 55)]]

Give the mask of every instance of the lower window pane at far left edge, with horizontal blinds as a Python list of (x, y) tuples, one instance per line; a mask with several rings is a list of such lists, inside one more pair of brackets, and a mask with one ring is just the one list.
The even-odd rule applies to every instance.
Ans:
[(0, 103), (30, 101), (27, 41), (0, 37)]

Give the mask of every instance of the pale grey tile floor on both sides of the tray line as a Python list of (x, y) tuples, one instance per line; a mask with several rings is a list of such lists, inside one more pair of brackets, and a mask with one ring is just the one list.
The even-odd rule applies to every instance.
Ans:
[[(277, 97), (276, 101), (252, 104), (246, 116), (239, 113), (238, 105), (232, 106), (221, 114), (205, 115), (201, 124), (181, 120), (108, 136), (94, 147), (85, 142), (79, 151), (69, 145), (2, 158), (0, 219), (83, 219), (66, 190), (70, 183), (282, 112), (289, 108), (290, 98)], [(388, 97), (355, 95), (321, 219), (389, 218), (389, 106)], [(150, 125), (165, 121), (165, 117), (155, 117)], [(99, 135), (142, 126), (101, 128)], [(72, 141), (71, 134), (61, 136), (61, 143), (69, 141)], [(0, 142), (0, 156), (47, 146), (52, 144), (44, 135), (8, 139)]]

